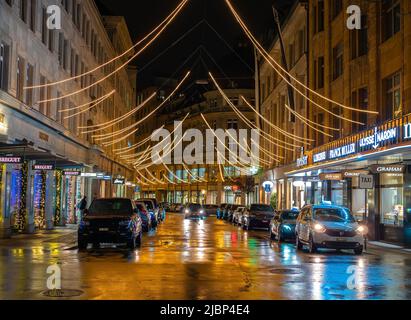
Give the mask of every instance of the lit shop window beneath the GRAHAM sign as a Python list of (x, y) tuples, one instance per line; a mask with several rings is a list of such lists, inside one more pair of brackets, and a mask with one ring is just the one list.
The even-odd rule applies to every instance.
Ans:
[(404, 224), (403, 175), (383, 173), (381, 184), (381, 223), (402, 227)]

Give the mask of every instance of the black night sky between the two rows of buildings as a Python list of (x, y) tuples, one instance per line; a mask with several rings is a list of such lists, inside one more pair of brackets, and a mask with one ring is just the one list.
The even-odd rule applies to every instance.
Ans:
[[(125, 16), (133, 41), (138, 41), (150, 32), (179, 2), (180, 0), (97, 0), (102, 14)], [(232, 0), (256, 36), (262, 36), (273, 28), (272, 4), (284, 17), (293, 2)], [(186, 34), (196, 25), (192, 32)], [(232, 52), (212, 28), (241, 58)], [(181, 41), (175, 43), (181, 37)], [(239, 43), (248, 47), (239, 48)], [(149, 85), (153, 76), (180, 78), (192, 67), (195, 69), (193, 77), (196, 78), (205, 78), (207, 69), (219, 77), (251, 77), (249, 67), (253, 68), (252, 47), (245, 40), (224, 0), (190, 0), (172, 25), (134, 64), (140, 70), (140, 88)]]

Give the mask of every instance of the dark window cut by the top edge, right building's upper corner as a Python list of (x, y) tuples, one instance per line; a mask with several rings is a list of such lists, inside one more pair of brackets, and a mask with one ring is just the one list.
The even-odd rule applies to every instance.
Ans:
[(383, 0), (381, 2), (382, 37), (384, 41), (394, 36), (401, 29), (400, 3), (400, 0)]

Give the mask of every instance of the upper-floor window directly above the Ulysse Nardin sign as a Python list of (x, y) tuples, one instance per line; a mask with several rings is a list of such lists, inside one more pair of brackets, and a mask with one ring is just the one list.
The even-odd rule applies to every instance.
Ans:
[(385, 90), (385, 119), (390, 120), (402, 115), (401, 73), (396, 73), (383, 80)]

